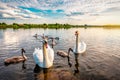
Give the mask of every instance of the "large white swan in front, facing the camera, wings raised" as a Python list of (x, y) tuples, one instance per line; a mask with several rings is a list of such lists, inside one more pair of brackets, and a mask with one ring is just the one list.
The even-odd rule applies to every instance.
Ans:
[(48, 45), (47, 39), (43, 39), (42, 43), (42, 49), (35, 48), (33, 52), (33, 59), (39, 67), (49, 68), (53, 65), (54, 51)]

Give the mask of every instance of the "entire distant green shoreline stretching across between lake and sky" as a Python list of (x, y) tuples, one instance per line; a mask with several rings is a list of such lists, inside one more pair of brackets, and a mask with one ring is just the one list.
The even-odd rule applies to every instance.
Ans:
[(48, 29), (60, 29), (60, 28), (64, 28), (64, 29), (69, 29), (69, 28), (79, 28), (79, 27), (83, 27), (83, 28), (90, 28), (90, 27), (103, 27), (103, 28), (120, 28), (120, 25), (70, 25), (70, 24), (17, 24), (17, 23), (13, 23), (13, 24), (6, 24), (6, 23), (0, 23), (0, 29), (7, 29), (7, 28), (13, 28), (13, 29), (29, 29), (29, 28), (48, 28)]

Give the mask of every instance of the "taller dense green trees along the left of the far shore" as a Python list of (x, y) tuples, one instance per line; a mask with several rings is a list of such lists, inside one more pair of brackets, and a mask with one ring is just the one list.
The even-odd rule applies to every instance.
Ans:
[(59, 28), (71, 28), (72, 25), (70, 24), (18, 24), (18, 23), (13, 23), (13, 24), (6, 24), (6, 23), (0, 23), (0, 29), (6, 29), (6, 28), (13, 28), (13, 29), (19, 29), (19, 28), (54, 28), (54, 29), (59, 29)]

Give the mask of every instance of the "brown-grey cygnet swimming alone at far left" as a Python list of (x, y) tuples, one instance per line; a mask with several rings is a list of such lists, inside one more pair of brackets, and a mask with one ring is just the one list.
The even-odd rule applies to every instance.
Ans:
[(12, 63), (18, 63), (18, 62), (23, 62), (27, 60), (27, 57), (25, 56), (25, 50), (22, 48), (21, 49), (21, 54), (22, 56), (13, 56), (11, 58), (7, 58), (4, 60), (5, 65), (12, 64)]

